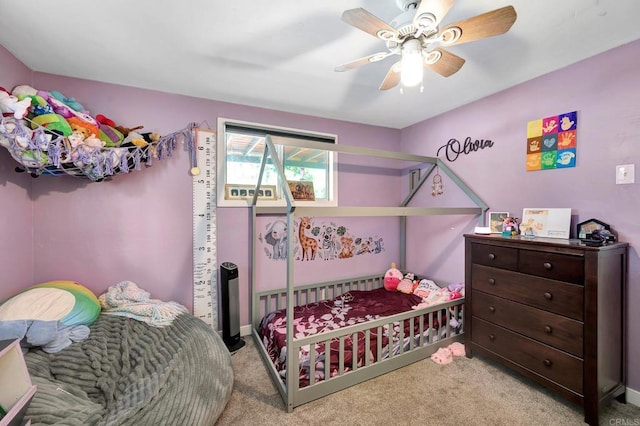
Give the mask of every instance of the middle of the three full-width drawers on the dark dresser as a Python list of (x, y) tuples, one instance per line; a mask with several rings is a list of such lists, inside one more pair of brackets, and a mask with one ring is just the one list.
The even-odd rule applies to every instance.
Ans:
[(473, 316), (582, 358), (583, 324), (580, 321), (476, 290), (472, 296)]

